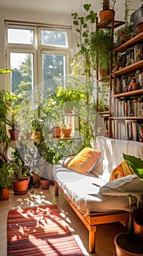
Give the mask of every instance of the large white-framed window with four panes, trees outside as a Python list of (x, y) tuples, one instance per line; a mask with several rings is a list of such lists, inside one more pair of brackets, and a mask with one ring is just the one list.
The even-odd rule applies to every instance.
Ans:
[(26, 97), (34, 89), (48, 89), (47, 80), (66, 76), (69, 64), (70, 29), (5, 24), (7, 68), (13, 70), (9, 89)]

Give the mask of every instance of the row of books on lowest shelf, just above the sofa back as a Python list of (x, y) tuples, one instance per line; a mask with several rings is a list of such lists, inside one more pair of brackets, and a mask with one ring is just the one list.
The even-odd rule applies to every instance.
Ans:
[(112, 120), (112, 138), (141, 141), (142, 125), (132, 120)]

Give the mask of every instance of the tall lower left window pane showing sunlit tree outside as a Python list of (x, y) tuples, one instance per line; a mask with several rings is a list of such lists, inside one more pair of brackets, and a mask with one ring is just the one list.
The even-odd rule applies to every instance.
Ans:
[(12, 93), (23, 98), (33, 91), (33, 53), (10, 53), (12, 72)]

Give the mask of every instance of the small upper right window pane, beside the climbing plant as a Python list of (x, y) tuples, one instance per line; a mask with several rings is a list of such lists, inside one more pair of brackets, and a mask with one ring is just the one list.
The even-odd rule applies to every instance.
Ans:
[(54, 45), (67, 47), (67, 35), (63, 31), (41, 31), (42, 45)]

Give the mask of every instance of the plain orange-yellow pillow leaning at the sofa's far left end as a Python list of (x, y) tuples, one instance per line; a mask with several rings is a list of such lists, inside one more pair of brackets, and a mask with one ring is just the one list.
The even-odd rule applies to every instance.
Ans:
[(78, 173), (85, 174), (93, 170), (101, 152), (93, 148), (83, 148), (74, 159), (71, 159), (67, 167), (76, 170)]

